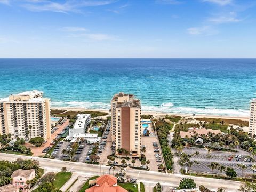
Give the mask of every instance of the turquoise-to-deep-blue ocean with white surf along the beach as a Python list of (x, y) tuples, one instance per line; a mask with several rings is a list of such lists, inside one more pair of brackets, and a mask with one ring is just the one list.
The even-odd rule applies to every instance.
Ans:
[(0, 98), (44, 91), (52, 106), (109, 109), (133, 93), (142, 109), (248, 116), (256, 59), (0, 59)]

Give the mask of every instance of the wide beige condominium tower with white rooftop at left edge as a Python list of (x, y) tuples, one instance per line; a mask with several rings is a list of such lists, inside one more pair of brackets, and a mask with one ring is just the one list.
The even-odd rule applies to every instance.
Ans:
[(43, 98), (43, 92), (36, 90), (1, 99), (0, 134), (11, 134), (12, 138), (50, 138), (50, 99)]

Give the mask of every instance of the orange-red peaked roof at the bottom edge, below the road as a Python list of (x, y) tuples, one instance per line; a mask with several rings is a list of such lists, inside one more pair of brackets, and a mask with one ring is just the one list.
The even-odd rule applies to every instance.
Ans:
[(127, 192), (117, 185), (117, 178), (111, 175), (102, 175), (95, 181), (96, 185), (86, 189), (85, 192)]

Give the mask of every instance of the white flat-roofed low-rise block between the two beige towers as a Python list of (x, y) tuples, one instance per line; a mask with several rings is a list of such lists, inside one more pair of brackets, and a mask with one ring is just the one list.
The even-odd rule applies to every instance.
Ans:
[(73, 128), (69, 129), (69, 137), (73, 137), (74, 134), (85, 133), (86, 126), (91, 122), (91, 114), (77, 114), (76, 122)]

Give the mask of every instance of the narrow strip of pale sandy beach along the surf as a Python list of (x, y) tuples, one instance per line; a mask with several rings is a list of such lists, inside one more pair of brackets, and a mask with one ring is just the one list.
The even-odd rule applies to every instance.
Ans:
[[(107, 109), (87, 109), (83, 107), (51, 107), (51, 109), (55, 110), (68, 110), (68, 111), (100, 111), (109, 113)], [(158, 111), (141, 111), (141, 115), (153, 115), (161, 116), (161, 115), (176, 115), (182, 117), (193, 117), (192, 114), (183, 114), (183, 113), (165, 113), (165, 112), (158, 112)], [(243, 116), (222, 116), (222, 115), (209, 115), (209, 114), (196, 114), (195, 118), (222, 118), (222, 119), (239, 119), (243, 121), (249, 121), (249, 117)]]

